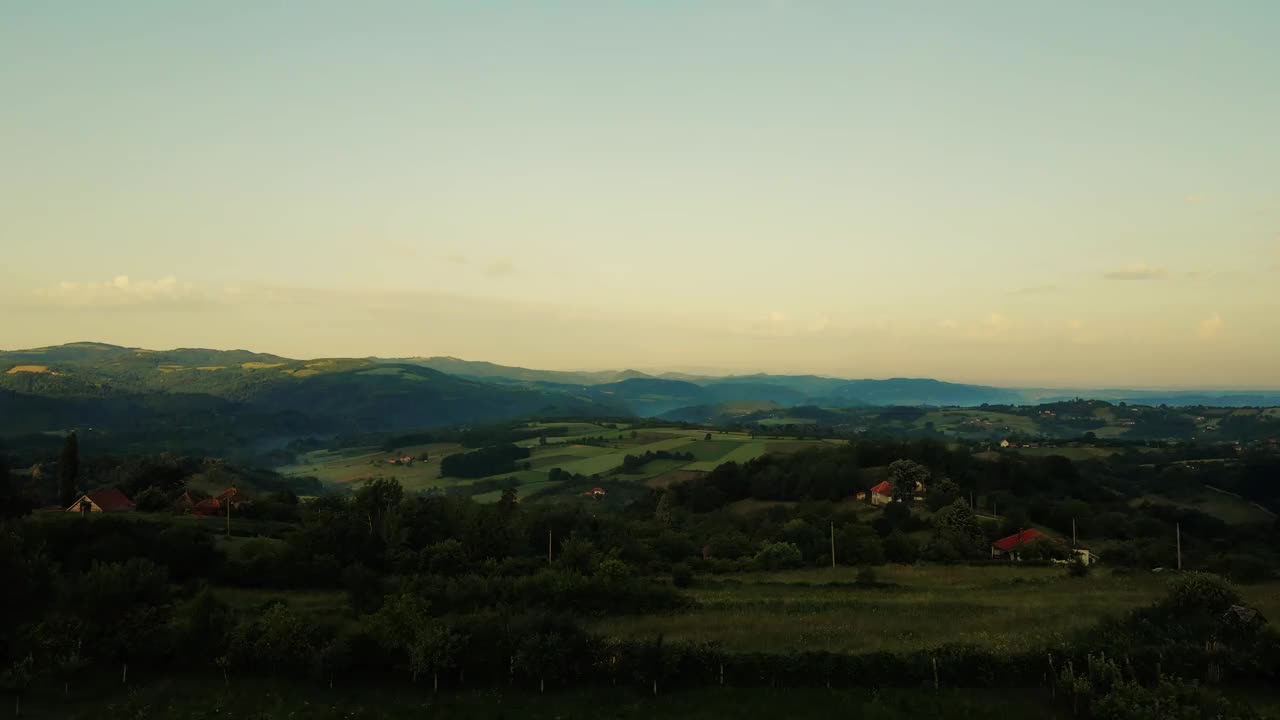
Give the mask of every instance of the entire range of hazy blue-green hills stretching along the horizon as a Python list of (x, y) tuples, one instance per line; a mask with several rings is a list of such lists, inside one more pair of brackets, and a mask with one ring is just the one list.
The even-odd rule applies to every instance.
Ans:
[(95, 427), (201, 442), (270, 443), (532, 416), (698, 421), (768, 407), (1025, 405), (1073, 397), (1144, 405), (1280, 405), (1280, 392), (1036, 389), (927, 378), (708, 377), (559, 372), (456, 357), (294, 360), (246, 350), (96, 342), (0, 352), (0, 436)]

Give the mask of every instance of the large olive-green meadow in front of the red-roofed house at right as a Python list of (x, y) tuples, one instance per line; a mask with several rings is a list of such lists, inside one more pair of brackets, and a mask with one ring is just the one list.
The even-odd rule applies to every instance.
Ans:
[[(707, 578), (690, 589), (699, 607), (680, 615), (611, 618), (616, 637), (662, 633), (731, 651), (902, 652), (964, 643), (1034, 650), (1105, 616), (1149, 605), (1165, 578), (1149, 573), (1068, 578), (1060, 568), (886, 566), (890, 587), (861, 588), (855, 570), (797, 570)], [(1242, 588), (1265, 615), (1280, 616), (1280, 583)]]

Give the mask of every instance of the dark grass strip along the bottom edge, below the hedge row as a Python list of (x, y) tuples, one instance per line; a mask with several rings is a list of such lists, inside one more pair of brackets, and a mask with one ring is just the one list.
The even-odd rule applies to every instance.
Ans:
[[(1042, 691), (943, 689), (769, 689), (703, 688), (664, 692), (654, 697), (643, 683), (609, 688), (557, 688), (545, 694), (535, 688), (499, 687), (456, 691), (442, 676), (442, 692), (429, 685), (365, 685), (324, 688), (316, 684), (284, 683), (265, 678), (233, 676), (224, 687), (214, 671), (206, 675), (148, 678), (146, 670), (131, 669), (141, 683), (122, 688), (111, 678), (95, 678), (61, 697), (61, 687), (41, 688), (23, 703), (24, 716), (36, 720), (147, 717), (193, 720), (206, 717), (255, 717), (259, 720), (307, 717), (316, 720), (389, 720), (433, 717), (480, 720), (721, 720), (722, 717), (865, 717), (910, 720), (915, 717), (1006, 719), (1069, 717), (1066, 705), (1051, 705)], [(116, 678), (118, 679), (118, 678)], [(200, 688), (196, 691), (195, 688)]]

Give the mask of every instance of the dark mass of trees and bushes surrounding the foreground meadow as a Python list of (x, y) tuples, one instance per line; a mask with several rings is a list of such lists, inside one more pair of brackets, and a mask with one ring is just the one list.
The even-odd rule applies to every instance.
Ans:
[[(100, 461), (76, 454), (68, 442), (50, 461), (50, 483), (79, 489), (77, 474)], [(174, 470), (180, 482), (159, 482), (169, 475), (150, 462), (95, 470), (132, 491), (138, 478), (156, 480), (138, 492), (159, 496), (154, 511), (116, 515), (27, 515), (32, 503), (6, 471), (0, 687), (15, 708), (26, 697), (45, 716), (84, 716), (93, 703), (122, 717), (211, 717), (230, 707), (284, 717), (302, 698), (330, 714), (316, 716), (586, 716), (609, 693), (628, 698), (617, 708), (623, 717), (698, 717), (733, 703), (763, 711), (818, 697), (870, 717), (1029, 715), (1032, 706), (1116, 720), (1258, 717), (1233, 698), (1280, 682), (1280, 634), (1238, 587), (1203, 570), (1267, 580), (1280, 546), (1274, 519), (1233, 524), (1143, 500), (1170, 487), (1199, 492), (1210, 480), (1268, 497), (1274, 459), (1238, 461), (1161, 469), (864, 441), (726, 464), (621, 511), (585, 498), (521, 502), (516, 488), (493, 503), (415, 496), (375, 479), (307, 501), (264, 488), (269, 512), (246, 509), (233, 528), (166, 505), (193, 475)], [(205, 471), (214, 470), (196, 474)], [(851, 501), (882, 480), (908, 489), (884, 506)], [(991, 542), (1029, 524), (1048, 537), (1024, 548), (1023, 564), (1069, 557), (1070, 543), (1052, 533), (1074, 524), (1094, 551), (1106, 548), (1108, 564), (1130, 571), (1176, 568), (1180, 538), (1188, 571), (1170, 571), (1143, 607), (1038, 644), (731, 650), (600, 630), (609, 619), (700, 612), (704, 596), (689, 588), (746, 570), (835, 560), (850, 579), (832, 592), (859, 593), (883, 584), (873, 568), (886, 562), (992, 564)], [(1062, 582), (1096, 571), (1078, 562), (1056, 570)], [(804, 638), (803, 616), (790, 618)], [(209, 691), (198, 707), (164, 700), (175, 678), (201, 678)], [(275, 700), (247, 706), (232, 688)]]

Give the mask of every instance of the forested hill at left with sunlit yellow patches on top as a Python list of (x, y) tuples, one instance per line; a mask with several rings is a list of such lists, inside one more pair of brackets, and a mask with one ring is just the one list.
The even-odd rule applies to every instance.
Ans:
[(595, 398), (366, 359), (101, 343), (0, 352), (0, 436), (93, 427), (224, 447), (298, 433), (622, 413)]

